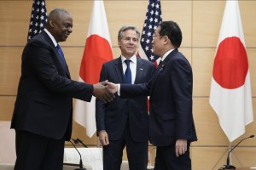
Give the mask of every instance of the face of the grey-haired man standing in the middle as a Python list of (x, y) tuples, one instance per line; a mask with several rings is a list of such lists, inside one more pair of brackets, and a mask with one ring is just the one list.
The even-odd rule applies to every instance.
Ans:
[(119, 48), (121, 54), (126, 58), (131, 58), (137, 52), (138, 37), (137, 32), (134, 30), (126, 30), (123, 32), (119, 40)]

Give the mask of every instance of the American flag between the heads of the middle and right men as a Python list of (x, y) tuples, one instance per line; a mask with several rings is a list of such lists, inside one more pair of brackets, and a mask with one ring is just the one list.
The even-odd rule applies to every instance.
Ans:
[(158, 59), (158, 56), (152, 53), (153, 49), (151, 42), (153, 40), (155, 29), (162, 21), (161, 14), (160, 0), (149, 0), (148, 11), (143, 26), (141, 46), (138, 54), (141, 58), (148, 59), (152, 62), (155, 62), (155, 60)]

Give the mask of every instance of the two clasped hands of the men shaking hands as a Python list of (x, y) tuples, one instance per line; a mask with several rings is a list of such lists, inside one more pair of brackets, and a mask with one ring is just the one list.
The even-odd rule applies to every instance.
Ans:
[(117, 91), (118, 85), (113, 82), (104, 81), (93, 84), (93, 96), (104, 102), (112, 101)]

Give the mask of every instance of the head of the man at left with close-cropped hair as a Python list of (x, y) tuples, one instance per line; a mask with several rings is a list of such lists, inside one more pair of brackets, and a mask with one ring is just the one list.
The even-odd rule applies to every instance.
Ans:
[(65, 42), (73, 31), (73, 18), (66, 12), (59, 12), (49, 19), (50, 33), (56, 42)]

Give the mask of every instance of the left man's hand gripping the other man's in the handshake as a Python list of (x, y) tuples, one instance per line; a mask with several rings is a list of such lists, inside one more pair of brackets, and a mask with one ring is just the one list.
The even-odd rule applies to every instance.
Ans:
[(98, 82), (98, 83), (94, 84), (93, 85), (93, 95), (98, 99), (102, 99), (104, 102), (110, 102), (113, 100), (114, 95), (105, 86), (106, 84), (107, 84), (107, 81)]

